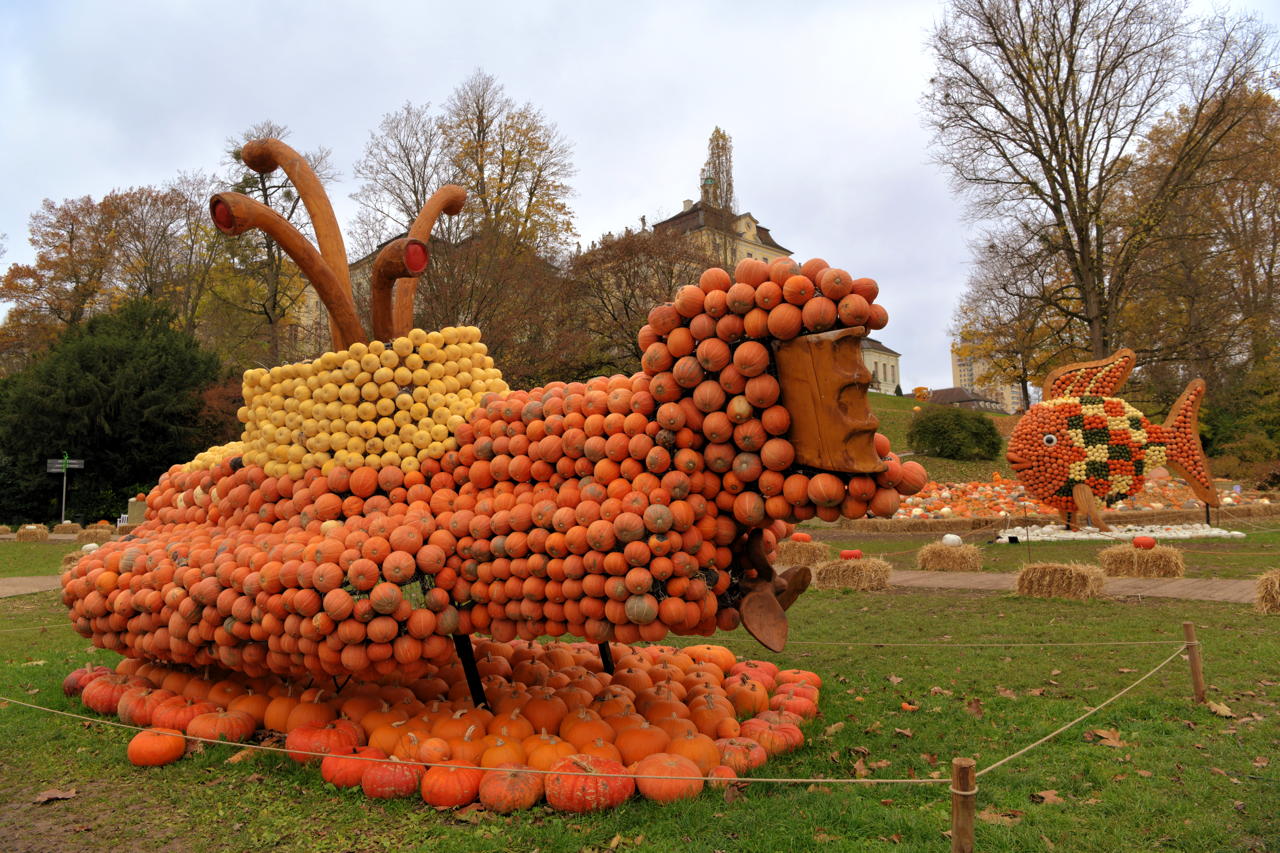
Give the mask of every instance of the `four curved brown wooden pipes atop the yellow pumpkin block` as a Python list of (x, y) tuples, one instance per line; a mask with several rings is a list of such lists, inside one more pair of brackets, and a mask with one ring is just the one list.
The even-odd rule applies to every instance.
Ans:
[[(266, 174), (284, 169), (306, 205), (316, 232), (316, 246), (284, 216), (260, 201), (238, 192), (220, 192), (209, 200), (214, 224), (225, 234), (238, 236), (251, 228), (268, 234), (298, 265), (329, 313), (329, 328), (335, 350), (367, 341), (356, 314), (347, 272), (347, 248), (338, 228), (329, 196), (315, 170), (301, 154), (280, 140), (253, 140), (241, 149), (244, 165)], [(466, 190), (454, 184), (440, 187), (419, 213), (407, 237), (383, 246), (374, 260), (370, 292), (374, 337), (383, 341), (407, 334), (413, 325), (413, 293), (417, 277), (430, 260), (428, 242), (442, 213), (451, 216), (462, 210)]]

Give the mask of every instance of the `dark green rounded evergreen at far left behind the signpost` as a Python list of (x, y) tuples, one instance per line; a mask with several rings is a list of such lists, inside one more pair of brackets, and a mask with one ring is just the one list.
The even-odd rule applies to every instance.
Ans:
[(174, 462), (204, 450), (201, 391), (218, 356), (173, 328), (174, 314), (131, 300), (68, 329), (40, 359), (0, 380), (0, 519), (58, 516), (67, 452), (69, 519), (114, 519)]

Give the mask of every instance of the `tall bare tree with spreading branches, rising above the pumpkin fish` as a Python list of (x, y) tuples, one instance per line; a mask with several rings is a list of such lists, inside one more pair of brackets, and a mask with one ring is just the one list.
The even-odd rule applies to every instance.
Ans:
[[(1061, 256), (1069, 287), (1047, 307), (1106, 355), (1144, 246), (1247, 120), (1268, 33), (1252, 18), (1193, 22), (1176, 0), (952, 0), (929, 46), (938, 163), (977, 218), (1015, 222)], [(1171, 156), (1123, 201), (1144, 134), (1179, 104)]]

